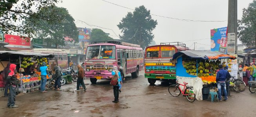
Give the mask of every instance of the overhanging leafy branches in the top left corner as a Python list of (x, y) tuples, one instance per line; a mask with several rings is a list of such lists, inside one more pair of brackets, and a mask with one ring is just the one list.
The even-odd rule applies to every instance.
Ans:
[(48, 22), (61, 20), (62, 17), (53, 17), (55, 13), (48, 14), (47, 18), (41, 14), (43, 12), (41, 9), (53, 7), (59, 1), (61, 0), (0, 0), (0, 27), (5, 33), (16, 32), (31, 36), (31, 30), (20, 22), (25, 18)]

